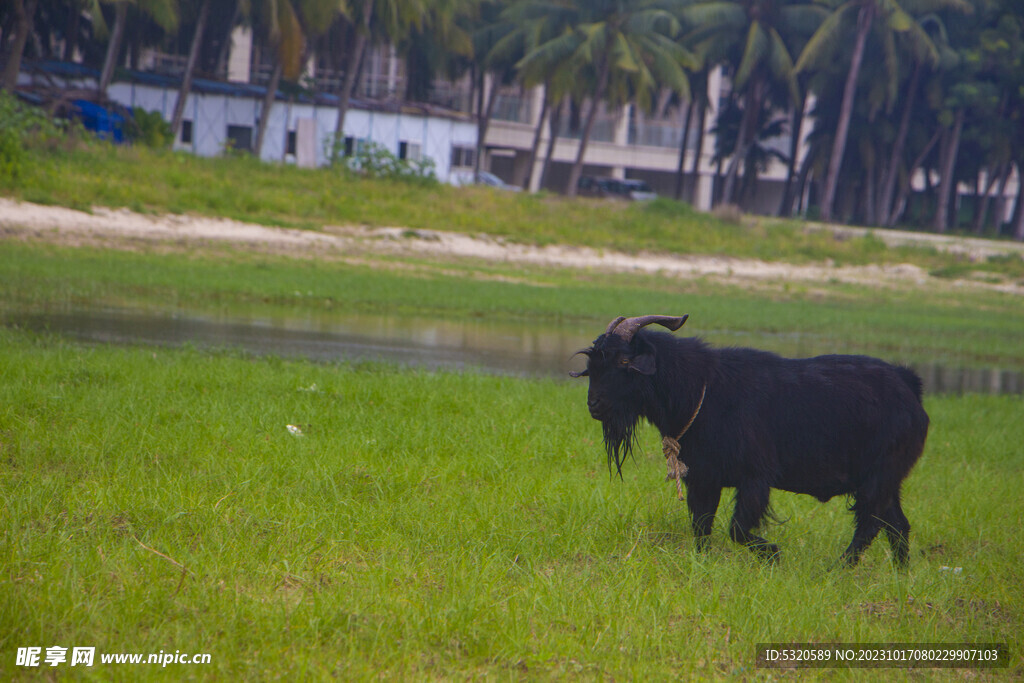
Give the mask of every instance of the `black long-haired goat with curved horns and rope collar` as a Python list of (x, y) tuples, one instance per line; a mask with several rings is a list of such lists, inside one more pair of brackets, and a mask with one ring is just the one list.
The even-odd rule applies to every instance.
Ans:
[[(708, 546), (722, 488), (736, 489), (733, 541), (775, 560), (778, 547), (753, 531), (770, 489), (821, 502), (852, 495), (856, 530), (842, 561), (856, 564), (885, 528), (903, 565), (910, 523), (900, 486), (928, 435), (921, 379), (913, 371), (862, 355), (791, 359), (749, 348), (712, 348), (675, 331), (687, 315), (618, 317), (583, 351), (587, 405), (604, 429), (608, 465), (622, 464), (640, 418), (665, 438), (672, 476), (685, 477), (698, 550)], [(677, 443), (678, 440), (678, 443)]]

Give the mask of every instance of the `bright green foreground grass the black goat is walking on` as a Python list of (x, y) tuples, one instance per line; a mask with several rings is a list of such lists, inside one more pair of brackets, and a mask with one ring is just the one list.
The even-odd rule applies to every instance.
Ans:
[(778, 567), (724, 512), (695, 555), (656, 436), (610, 478), (583, 385), (14, 331), (0, 378), (5, 678), (32, 645), (209, 652), (168, 667), (203, 679), (746, 678), (766, 641), (1001, 641), (1024, 673), (1016, 398), (928, 400), (899, 575), (884, 543), (830, 571), (844, 502), (784, 494)]

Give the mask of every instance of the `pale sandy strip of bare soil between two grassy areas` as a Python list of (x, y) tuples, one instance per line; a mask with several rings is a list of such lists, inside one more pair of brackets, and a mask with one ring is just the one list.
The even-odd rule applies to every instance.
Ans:
[[(949, 281), (908, 264), (792, 264), (717, 256), (638, 253), (589, 247), (511, 244), (485, 236), (401, 227), (328, 226), (324, 231), (268, 227), (223, 218), (150, 216), (127, 209), (91, 212), (0, 198), (0, 239), (129, 250), (188, 250), (228, 246), (305, 258), (361, 260), (368, 256), (487, 261), (613, 272), (659, 273), (682, 280), (711, 278), (731, 284), (757, 282), (852, 283), (879, 287), (972, 287), (1024, 294), (1010, 282)], [(898, 239), (904, 239), (899, 237)], [(949, 247), (949, 244), (944, 243)], [(969, 245), (966, 248), (977, 248)]]

